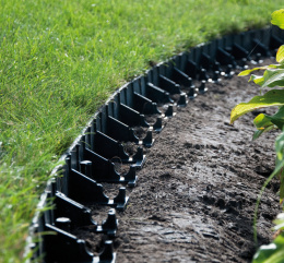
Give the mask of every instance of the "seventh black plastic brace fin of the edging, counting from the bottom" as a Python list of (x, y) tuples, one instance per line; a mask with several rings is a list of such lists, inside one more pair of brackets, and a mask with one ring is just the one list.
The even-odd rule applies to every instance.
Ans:
[(130, 127), (150, 127), (150, 124), (145, 121), (145, 117), (143, 115), (140, 115), (140, 112), (123, 104), (119, 104), (118, 119)]

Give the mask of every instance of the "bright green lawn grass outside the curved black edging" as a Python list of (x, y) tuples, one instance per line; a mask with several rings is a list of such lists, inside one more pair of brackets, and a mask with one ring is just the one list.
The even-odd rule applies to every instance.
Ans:
[(51, 169), (109, 94), (149, 61), (268, 25), (281, 7), (280, 0), (2, 0), (0, 262), (24, 261)]

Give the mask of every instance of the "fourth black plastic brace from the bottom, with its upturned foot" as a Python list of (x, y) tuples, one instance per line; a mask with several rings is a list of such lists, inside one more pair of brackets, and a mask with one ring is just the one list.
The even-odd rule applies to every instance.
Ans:
[(84, 159), (91, 160), (92, 164), (95, 164), (92, 168), (92, 178), (94, 180), (98, 182), (128, 183), (131, 187), (135, 184), (135, 166), (131, 165), (128, 174), (122, 178), (117, 174), (115, 164), (103, 156), (88, 148), (84, 148), (83, 156)]

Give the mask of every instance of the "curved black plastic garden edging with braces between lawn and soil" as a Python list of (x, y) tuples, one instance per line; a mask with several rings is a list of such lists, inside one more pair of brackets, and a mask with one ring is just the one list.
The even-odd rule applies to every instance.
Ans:
[[(153, 132), (164, 128), (164, 120), (175, 115), (175, 107), (186, 107), (190, 99), (206, 91), (206, 82), (230, 77), (233, 70), (246, 68), (248, 60), (257, 63), (264, 57), (274, 56), (283, 39), (284, 34), (277, 27), (224, 36), (175, 56), (119, 88), (61, 157), (64, 165), (52, 171), (38, 207), (40, 211), (52, 202), (54, 208), (36, 213), (29, 229), (26, 250), (34, 251), (33, 260), (115, 262), (111, 239), (118, 229), (116, 210), (123, 211), (129, 198), (126, 187), (120, 187), (116, 198), (109, 199), (100, 182), (135, 187), (137, 169), (143, 167), (146, 158), (143, 148), (153, 145)], [(165, 109), (163, 112), (161, 107)], [(146, 116), (156, 120), (151, 124)], [(135, 134), (133, 128), (137, 127), (146, 129), (143, 139)], [(125, 151), (125, 142), (139, 145), (137, 153), (130, 156)], [(130, 166), (126, 175), (117, 172), (114, 157)], [(86, 202), (110, 207), (100, 225), (82, 204)], [(98, 256), (88, 252), (85, 242), (71, 234), (87, 225), (93, 225), (95, 232), (109, 237)], [(35, 237), (37, 241), (34, 241)]]

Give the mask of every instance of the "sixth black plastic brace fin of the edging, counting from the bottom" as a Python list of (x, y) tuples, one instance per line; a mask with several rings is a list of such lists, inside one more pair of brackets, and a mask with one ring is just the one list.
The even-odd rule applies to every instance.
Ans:
[(106, 135), (120, 142), (139, 143), (133, 129), (110, 116), (106, 119)]

